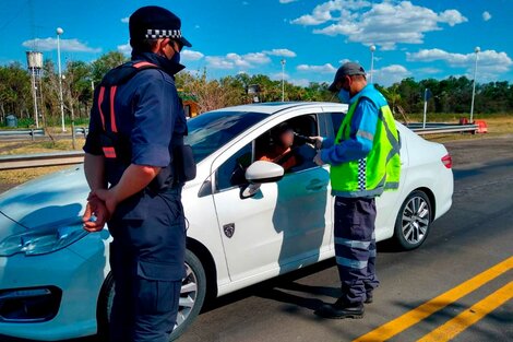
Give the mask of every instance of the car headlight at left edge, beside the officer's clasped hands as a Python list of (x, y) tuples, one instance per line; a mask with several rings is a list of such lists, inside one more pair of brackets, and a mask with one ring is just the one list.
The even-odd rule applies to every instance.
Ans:
[(0, 256), (10, 257), (19, 252), (26, 256), (46, 255), (65, 248), (87, 234), (77, 221), (31, 229), (3, 239), (0, 243)]

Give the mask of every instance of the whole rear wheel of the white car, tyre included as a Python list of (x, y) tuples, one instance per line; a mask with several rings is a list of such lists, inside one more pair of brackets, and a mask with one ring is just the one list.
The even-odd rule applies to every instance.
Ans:
[(413, 191), (404, 201), (395, 221), (395, 241), (404, 250), (419, 247), (426, 240), (432, 221), (431, 201), (420, 191)]

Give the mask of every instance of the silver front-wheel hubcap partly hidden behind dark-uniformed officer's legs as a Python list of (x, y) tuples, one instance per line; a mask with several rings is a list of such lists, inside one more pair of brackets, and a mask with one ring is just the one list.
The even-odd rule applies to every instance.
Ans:
[[(183, 323), (189, 315), (191, 314), (192, 308), (194, 307), (195, 298), (198, 295), (198, 279), (189, 264), (186, 263), (186, 278), (182, 280), (181, 291), (180, 291), (180, 300), (178, 303), (178, 315), (177, 323), (175, 329)], [(108, 296), (108, 316), (110, 317), (110, 310), (112, 309), (112, 300), (115, 296), (115, 288), (110, 291)]]

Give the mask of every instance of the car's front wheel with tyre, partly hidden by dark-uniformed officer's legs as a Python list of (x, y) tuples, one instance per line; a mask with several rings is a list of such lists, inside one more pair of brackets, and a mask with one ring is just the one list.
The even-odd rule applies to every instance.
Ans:
[[(194, 321), (205, 300), (206, 275), (198, 257), (190, 250), (186, 251), (186, 278), (182, 280), (177, 325), (170, 341), (178, 339)], [(115, 295), (114, 279), (109, 273), (102, 287), (98, 300), (98, 337), (108, 341), (108, 320)]]

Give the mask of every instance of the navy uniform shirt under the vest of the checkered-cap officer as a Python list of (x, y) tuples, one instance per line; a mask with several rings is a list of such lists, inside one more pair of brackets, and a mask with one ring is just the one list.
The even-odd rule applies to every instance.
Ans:
[[(118, 86), (115, 101), (117, 130), (121, 135), (130, 137), (132, 164), (166, 167), (172, 162), (172, 145), (181, 144), (187, 132), (186, 116), (171, 76), (183, 67), (150, 52), (135, 55), (132, 60), (148, 61), (162, 70), (142, 70)], [(95, 94), (84, 151), (103, 155), (103, 125), (97, 99)], [(111, 186), (119, 181), (126, 167), (107, 170)]]

